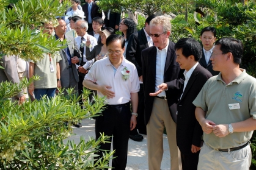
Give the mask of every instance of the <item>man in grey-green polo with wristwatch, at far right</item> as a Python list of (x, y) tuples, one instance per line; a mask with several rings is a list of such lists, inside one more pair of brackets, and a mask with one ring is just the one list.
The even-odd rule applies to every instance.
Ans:
[(249, 140), (256, 129), (256, 79), (240, 69), (243, 44), (235, 38), (216, 41), (214, 71), (194, 100), (203, 129), (197, 169), (243, 169), (251, 165)]

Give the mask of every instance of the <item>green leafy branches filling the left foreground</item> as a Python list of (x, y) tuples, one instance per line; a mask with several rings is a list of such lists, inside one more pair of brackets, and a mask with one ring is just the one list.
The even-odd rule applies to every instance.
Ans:
[[(24, 59), (37, 60), (43, 53), (55, 53), (63, 48), (55, 37), (47, 37), (35, 29), (42, 22), (52, 21), (62, 16), (68, 4), (59, 0), (23, 0), (7, 9), (8, 3), (0, 0), (0, 55), (19, 55)], [(64, 46), (65, 47), (65, 46)], [(2, 68), (0, 68), (2, 69)], [(108, 136), (101, 135), (95, 140), (79, 144), (63, 140), (72, 133), (71, 122), (96, 116), (104, 108), (104, 98), (95, 97), (89, 102), (89, 91), (84, 90), (84, 108), (79, 105), (78, 96), (72, 89), (63, 90), (55, 98), (43, 97), (40, 101), (19, 105), (11, 100), (21, 90), (39, 77), (21, 83), (0, 83), (0, 169), (103, 169), (113, 152), (94, 160), (97, 148)], [(64, 123), (64, 122), (67, 122)]]

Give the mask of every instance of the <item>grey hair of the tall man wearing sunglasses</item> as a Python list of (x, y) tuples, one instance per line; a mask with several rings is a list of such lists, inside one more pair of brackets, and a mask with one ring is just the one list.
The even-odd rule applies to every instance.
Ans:
[(172, 31), (172, 24), (170, 24), (170, 18), (166, 16), (156, 16), (150, 21), (150, 26), (163, 26), (163, 31)]

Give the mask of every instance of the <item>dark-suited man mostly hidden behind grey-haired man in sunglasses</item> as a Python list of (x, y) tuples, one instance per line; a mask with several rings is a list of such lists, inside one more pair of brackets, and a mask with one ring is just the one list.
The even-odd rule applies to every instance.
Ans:
[[(143, 136), (139, 133), (147, 135), (147, 129), (144, 123), (144, 90), (142, 82), (142, 68), (141, 68), (141, 51), (153, 46), (152, 38), (150, 34), (150, 21), (155, 18), (156, 15), (148, 16), (145, 21), (145, 27), (138, 32), (131, 35), (128, 41), (126, 49), (126, 59), (132, 62), (136, 68), (137, 73), (140, 79), (140, 88), (139, 88), (139, 105), (137, 113), (139, 114), (137, 118), (137, 125), (134, 130), (131, 130), (130, 138), (134, 141), (143, 140)], [(137, 132), (139, 130), (139, 133)]]

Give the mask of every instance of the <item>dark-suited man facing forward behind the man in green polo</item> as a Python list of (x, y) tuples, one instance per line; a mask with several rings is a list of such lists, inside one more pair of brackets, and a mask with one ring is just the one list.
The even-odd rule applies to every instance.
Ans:
[(216, 29), (214, 27), (205, 27), (202, 29), (200, 34), (200, 40), (203, 44), (203, 54), (202, 58), (199, 60), (199, 63), (203, 68), (206, 68), (210, 71), (213, 76), (219, 74), (219, 71), (213, 70), (213, 65), (211, 65), (211, 54), (213, 53), (214, 43), (216, 41)]

